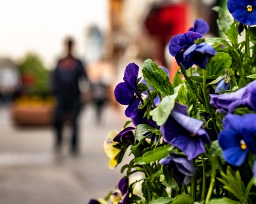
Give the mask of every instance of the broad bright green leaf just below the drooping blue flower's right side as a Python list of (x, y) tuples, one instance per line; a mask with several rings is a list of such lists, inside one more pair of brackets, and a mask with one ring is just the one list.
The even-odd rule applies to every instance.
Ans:
[(207, 76), (220, 75), (221, 71), (231, 67), (232, 58), (229, 54), (219, 52), (210, 59), (206, 66)]

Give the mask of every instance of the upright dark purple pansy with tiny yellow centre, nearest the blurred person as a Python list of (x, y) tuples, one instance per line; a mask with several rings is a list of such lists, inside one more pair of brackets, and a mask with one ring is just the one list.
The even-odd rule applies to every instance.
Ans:
[(133, 118), (138, 110), (141, 95), (137, 88), (139, 67), (135, 63), (126, 66), (122, 83), (117, 84), (114, 89), (114, 96), (118, 103), (128, 105), (125, 115)]

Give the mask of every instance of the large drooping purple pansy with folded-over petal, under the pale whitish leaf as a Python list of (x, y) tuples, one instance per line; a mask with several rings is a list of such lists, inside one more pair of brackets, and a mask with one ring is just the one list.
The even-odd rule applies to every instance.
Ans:
[(169, 118), (160, 127), (165, 142), (178, 147), (189, 160), (204, 153), (204, 143), (210, 145), (210, 138), (204, 129), (203, 121), (186, 115), (187, 106), (176, 103)]

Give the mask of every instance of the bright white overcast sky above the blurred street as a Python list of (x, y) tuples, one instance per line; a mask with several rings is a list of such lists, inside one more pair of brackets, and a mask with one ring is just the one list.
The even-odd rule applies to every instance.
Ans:
[(34, 51), (52, 68), (63, 38), (74, 36), (84, 57), (86, 28), (108, 28), (108, 0), (0, 0), (0, 57), (20, 59)]

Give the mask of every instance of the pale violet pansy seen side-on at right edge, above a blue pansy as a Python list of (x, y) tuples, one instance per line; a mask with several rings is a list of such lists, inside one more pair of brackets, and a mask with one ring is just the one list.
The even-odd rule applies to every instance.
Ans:
[(246, 106), (256, 111), (256, 80), (233, 93), (210, 94), (210, 103), (219, 113), (232, 113)]

